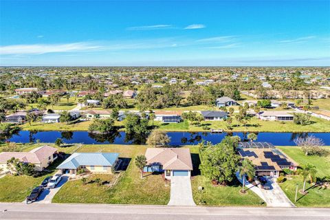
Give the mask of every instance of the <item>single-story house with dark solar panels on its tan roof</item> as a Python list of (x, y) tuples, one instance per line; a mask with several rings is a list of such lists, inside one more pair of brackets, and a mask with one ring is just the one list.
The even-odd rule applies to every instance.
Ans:
[(256, 176), (279, 177), (284, 168), (297, 170), (298, 164), (277, 148), (241, 148), (241, 157), (250, 159)]

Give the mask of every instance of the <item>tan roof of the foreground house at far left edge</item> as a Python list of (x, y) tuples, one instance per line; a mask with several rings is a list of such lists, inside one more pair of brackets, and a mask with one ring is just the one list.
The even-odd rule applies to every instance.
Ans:
[(40, 164), (44, 159), (50, 157), (56, 152), (57, 148), (48, 145), (34, 148), (30, 152), (2, 152), (0, 153), (0, 163), (6, 163), (8, 159), (12, 159), (12, 157), (15, 157), (22, 162)]

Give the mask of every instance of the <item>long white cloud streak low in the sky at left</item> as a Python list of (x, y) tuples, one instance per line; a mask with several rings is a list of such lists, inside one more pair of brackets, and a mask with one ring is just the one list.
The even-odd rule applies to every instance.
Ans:
[(64, 44), (8, 45), (0, 47), (0, 54), (49, 54), (61, 52), (84, 52), (96, 49), (100, 49), (100, 46), (85, 42)]

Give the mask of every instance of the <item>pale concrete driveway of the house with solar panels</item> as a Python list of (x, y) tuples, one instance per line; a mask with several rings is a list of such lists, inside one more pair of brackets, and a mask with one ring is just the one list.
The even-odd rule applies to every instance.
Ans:
[(261, 192), (268, 207), (294, 207), (294, 203), (287, 198), (282, 188), (276, 183), (276, 179), (267, 177), (266, 185), (270, 186), (270, 190), (261, 189)]

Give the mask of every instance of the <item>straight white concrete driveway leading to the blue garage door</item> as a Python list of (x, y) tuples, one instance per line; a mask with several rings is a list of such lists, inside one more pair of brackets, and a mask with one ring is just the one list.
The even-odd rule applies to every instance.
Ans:
[(196, 206), (192, 199), (190, 177), (170, 177), (168, 206)]

